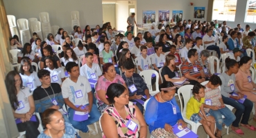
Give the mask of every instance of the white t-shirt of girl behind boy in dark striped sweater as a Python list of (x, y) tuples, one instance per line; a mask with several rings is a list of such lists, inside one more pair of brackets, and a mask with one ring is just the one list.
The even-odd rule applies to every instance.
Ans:
[(49, 70), (50, 72), (50, 77), (51, 77), (51, 83), (59, 83), (60, 85), (62, 84), (63, 78), (65, 78), (65, 72), (62, 68), (54, 68), (51, 70), (50, 68), (44, 68), (44, 70)]

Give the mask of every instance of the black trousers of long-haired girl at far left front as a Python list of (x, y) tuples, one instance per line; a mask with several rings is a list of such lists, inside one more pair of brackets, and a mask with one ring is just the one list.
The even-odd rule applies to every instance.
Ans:
[(40, 135), (40, 132), (37, 130), (39, 126), (38, 118), (37, 121), (25, 121), (24, 123), (17, 124), (19, 132), (26, 131), (26, 138), (35, 138)]

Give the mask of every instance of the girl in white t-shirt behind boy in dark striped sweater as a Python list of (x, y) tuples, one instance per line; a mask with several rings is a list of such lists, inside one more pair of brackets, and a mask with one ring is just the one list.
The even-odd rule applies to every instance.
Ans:
[(61, 67), (58, 67), (57, 62), (53, 59), (53, 57), (45, 58), (45, 66), (44, 70), (48, 70), (50, 72), (51, 82), (59, 83), (60, 86), (62, 82), (65, 80), (65, 72)]

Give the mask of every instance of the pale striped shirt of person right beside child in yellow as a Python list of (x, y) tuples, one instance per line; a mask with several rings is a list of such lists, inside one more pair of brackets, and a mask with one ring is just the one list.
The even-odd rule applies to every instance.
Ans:
[[(221, 90), (219, 88), (211, 89), (207, 88), (205, 85), (205, 100), (210, 99), (212, 102), (212, 106), (221, 106)], [(205, 102), (206, 103), (206, 102)], [(210, 108), (204, 108), (205, 112), (209, 112)]]

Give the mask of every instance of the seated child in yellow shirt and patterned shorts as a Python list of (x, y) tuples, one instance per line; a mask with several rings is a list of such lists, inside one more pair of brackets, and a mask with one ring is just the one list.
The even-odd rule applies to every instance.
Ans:
[(205, 112), (204, 103), (205, 103), (205, 86), (202, 86), (200, 83), (197, 83), (192, 93), (194, 97), (191, 97), (187, 102), (187, 112), (186, 117), (195, 123), (200, 122), (205, 128), (207, 135), (212, 138), (214, 136), (215, 128), (215, 119), (210, 115), (210, 113)]

